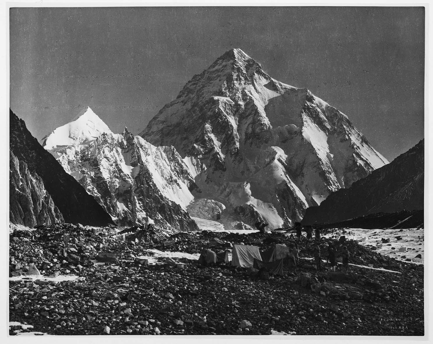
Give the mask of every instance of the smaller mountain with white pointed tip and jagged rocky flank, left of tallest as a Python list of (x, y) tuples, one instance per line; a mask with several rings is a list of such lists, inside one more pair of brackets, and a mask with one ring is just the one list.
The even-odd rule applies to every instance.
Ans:
[[(76, 122), (81, 124), (77, 126)], [(94, 126), (94, 123), (99, 124)], [(134, 226), (155, 222), (176, 230), (197, 229), (186, 212), (193, 200), (190, 189), (195, 187), (194, 179), (173, 147), (155, 147), (127, 129), (122, 134), (114, 134), (89, 108), (61, 128), (92, 132), (92, 140), (89, 135), (81, 135), (71, 145), (63, 143), (65, 136), (73, 134), (59, 128), (42, 140), (48, 152), (103, 206), (116, 224)], [(187, 162), (193, 164), (191, 159)]]

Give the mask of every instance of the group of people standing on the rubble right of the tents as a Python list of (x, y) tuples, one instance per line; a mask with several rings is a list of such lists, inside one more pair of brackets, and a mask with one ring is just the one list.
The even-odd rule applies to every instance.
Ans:
[[(292, 227), (293, 229), (293, 227)], [(303, 226), (301, 225), (300, 222), (295, 222), (294, 225), (294, 230), (296, 232), (296, 237), (297, 240), (301, 240), (301, 235), (302, 235), (302, 229)], [(320, 227), (313, 227), (313, 226), (304, 226), (304, 229), (307, 233), (307, 240), (310, 240), (313, 238), (313, 229), (314, 229), (314, 234), (315, 234), (315, 239), (316, 240), (320, 240), (320, 234), (321, 234), (321, 230)], [(298, 255), (299, 250), (297, 247), (297, 244), (294, 244), (296, 246), (296, 255)], [(293, 245), (292, 245), (293, 246)], [(292, 249), (291, 249), (292, 250)], [(332, 242), (328, 243), (328, 247), (327, 247), (327, 254), (326, 254), (326, 263), (329, 264), (331, 271), (335, 271), (335, 267), (336, 267), (336, 253), (337, 250), (335, 248), (335, 246), (333, 245)], [(320, 247), (317, 245), (314, 248), (314, 263), (317, 266), (318, 270), (322, 269), (322, 253), (320, 251)], [(347, 249), (347, 246), (343, 247), (343, 251), (341, 252), (341, 257), (343, 259), (343, 267), (344, 268), (348, 268), (349, 267), (349, 250)]]

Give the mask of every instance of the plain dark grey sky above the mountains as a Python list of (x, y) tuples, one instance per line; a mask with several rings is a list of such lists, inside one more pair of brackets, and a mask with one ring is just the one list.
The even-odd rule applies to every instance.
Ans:
[(423, 7), (10, 9), (10, 107), (38, 139), (90, 106), (135, 134), (231, 48), (308, 88), (389, 160), (424, 136)]

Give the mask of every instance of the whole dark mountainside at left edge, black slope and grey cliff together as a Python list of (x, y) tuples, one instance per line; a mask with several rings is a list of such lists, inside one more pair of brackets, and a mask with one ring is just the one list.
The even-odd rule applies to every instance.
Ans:
[(66, 221), (113, 224), (111, 217), (38, 143), (10, 110), (10, 221), (33, 227)]

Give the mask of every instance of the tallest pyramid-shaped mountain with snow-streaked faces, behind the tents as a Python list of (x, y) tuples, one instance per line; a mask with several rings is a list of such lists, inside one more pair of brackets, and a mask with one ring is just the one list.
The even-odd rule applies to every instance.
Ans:
[(346, 115), (271, 78), (240, 49), (195, 75), (140, 135), (199, 161), (200, 198), (271, 228), (388, 163)]

